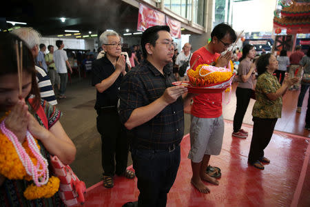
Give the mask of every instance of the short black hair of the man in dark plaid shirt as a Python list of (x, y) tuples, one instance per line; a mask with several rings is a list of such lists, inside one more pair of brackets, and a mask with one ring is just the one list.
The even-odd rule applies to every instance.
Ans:
[(170, 32), (169, 26), (152, 26), (147, 28), (142, 34), (141, 37), (141, 48), (143, 52), (143, 57), (147, 58), (147, 51), (145, 49), (145, 45), (150, 43), (152, 46), (156, 45), (156, 40), (158, 39), (158, 32), (164, 30)]

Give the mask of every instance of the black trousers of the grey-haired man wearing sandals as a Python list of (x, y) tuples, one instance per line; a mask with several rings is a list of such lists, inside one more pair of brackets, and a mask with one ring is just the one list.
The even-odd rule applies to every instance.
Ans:
[(101, 161), (103, 175), (121, 175), (127, 168), (129, 144), (125, 126), (121, 124), (116, 108), (97, 110), (97, 130), (101, 134)]

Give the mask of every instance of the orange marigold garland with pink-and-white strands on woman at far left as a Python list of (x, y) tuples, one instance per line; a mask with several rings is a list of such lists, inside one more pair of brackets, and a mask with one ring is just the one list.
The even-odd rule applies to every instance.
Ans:
[(26, 199), (52, 197), (59, 190), (60, 181), (58, 177), (49, 179), (48, 161), (41, 155), (37, 139), (27, 130), (26, 139), (21, 144), (6, 128), (5, 120), (5, 117), (0, 119), (0, 174), (8, 179), (33, 180), (34, 184), (23, 193)]

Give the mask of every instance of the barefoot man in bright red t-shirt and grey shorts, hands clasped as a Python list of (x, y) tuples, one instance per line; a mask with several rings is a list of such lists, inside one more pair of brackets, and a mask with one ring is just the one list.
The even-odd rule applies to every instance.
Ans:
[[(192, 66), (198, 59), (192, 68), (200, 64), (227, 66), (232, 56), (231, 51), (222, 56), (220, 53), (227, 50), (234, 41), (236, 41), (236, 32), (225, 23), (218, 24), (211, 32), (211, 41), (193, 53), (190, 65)], [(203, 93), (194, 97), (191, 114), (191, 150), (188, 155), (192, 160), (191, 183), (201, 193), (209, 193), (210, 190), (203, 181), (218, 185), (214, 177), (220, 177), (220, 172), (211, 177), (206, 169), (210, 156), (219, 155), (223, 144), (222, 93)]]

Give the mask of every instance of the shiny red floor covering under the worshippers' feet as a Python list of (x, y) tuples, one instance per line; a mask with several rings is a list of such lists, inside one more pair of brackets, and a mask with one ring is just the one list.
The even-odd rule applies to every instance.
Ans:
[[(210, 164), (221, 169), (220, 185), (207, 184), (209, 194), (199, 193), (192, 184), (192, 168), (187, 159), (189, 135), (181, 143), (181, 162), (167, 206), (310, 206), (310, 139), (275, 131), (265, 156), (271, 164), (265, 170), (248, 166), (251, 126), (247, 139), (231, 137), (232, 123), (225, 120), (223, 148)], [(138, 197), (136, 179), (115, 178), (106, 189), (102, 182), (87, 188), (84, 206), (122, 206)]]

